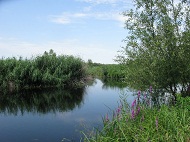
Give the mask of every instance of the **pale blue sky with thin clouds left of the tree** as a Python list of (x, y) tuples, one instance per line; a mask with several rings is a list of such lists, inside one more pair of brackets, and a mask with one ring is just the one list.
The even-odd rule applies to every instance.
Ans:
[(53, 49), (114, 63), (127, 35), (131, 0), (0, 0), (0, 57), (30, 58)]

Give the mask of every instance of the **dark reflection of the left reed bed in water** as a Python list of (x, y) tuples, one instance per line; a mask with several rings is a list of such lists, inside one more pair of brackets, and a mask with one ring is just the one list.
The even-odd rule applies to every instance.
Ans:
[(14, 114), (18, 112), (48, 113), (65, 112), (80, 107), (83, 102), (85, 88), (60, 90), (32, 90), (12, 94), (0, 94), (0, 113)]

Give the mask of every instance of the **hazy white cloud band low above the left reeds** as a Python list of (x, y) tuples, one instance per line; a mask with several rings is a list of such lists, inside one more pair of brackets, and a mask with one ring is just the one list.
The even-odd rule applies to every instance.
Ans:
[(114, 63), (113, 58), (117, 50), (106, 49), (102, 44), (84, 44), (77, 39), (66, 39), (63, 41), (49, 41), (41, 44), (23, 42), (16, 39), (0, 39), (0, 58), (1, 57), (20, 57), (31, 58), (43, 54), (45, 51), (53, 49), (57, 55), (74, 55), (87, 61)]

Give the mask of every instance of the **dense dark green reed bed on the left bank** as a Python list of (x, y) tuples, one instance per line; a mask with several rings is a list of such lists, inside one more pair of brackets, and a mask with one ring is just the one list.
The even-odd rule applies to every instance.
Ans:
[(57, 56), (53, 50), (32, 59), (2, 58), (0, 72), (1, 90), (77, 86), (86, 77), (85, 63), (80, 58)]

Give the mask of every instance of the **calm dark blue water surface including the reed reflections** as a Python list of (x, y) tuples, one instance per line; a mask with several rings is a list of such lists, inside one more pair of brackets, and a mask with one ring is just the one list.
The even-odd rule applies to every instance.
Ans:
[[(102, 117), (118, 106), (126, 88), (103, 84), (76, 90), (38, 90), (0, 94), (0, 141), (69, 142), (80, 141), (81, 131), (101, 128)], [(110, 110), (111, 109), (111, 110)]]

